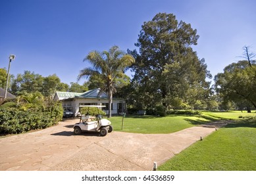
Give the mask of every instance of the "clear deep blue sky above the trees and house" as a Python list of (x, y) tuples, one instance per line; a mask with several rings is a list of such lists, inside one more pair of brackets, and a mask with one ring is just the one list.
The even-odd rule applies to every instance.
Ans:
[(15, 76), (30, 70), (76, 82), (90, 51), (136, 49), (141, 25), (158, 12), (197, 29), (193, 49), (213, 76), (240, 60), (244, 45), (256, 53), (255, 0), (0, 0), (0, 68), (14, 54)]

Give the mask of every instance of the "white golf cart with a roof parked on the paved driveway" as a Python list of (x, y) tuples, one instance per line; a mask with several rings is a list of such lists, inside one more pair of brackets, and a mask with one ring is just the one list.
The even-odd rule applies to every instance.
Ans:
[[(103, 119), (99, 114), (99, 108), (105, 107), (102, 105), (83, 105), (81, 107), (97, 107), (98, 114), (96, 116), (90, 116), (90, 114), (81, 115), (80, 122), (74, 125), (74, 134), (78, 135), (82, 131), (99, 132), (101, 136), (107, 135), (113, 131), (111, 122), (107, 119)], [(88, 110), (89, 111), (89, 110)]]

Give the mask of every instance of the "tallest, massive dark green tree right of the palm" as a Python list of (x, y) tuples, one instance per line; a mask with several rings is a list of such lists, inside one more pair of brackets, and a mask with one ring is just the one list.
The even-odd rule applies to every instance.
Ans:
[[(204, 59), (192, 49), (197, 45), (197, 30), (173, 14), (159, 13), (144, 22), (138, 43), (132, 86), (138, 100), (147, 105), (194, 106), (195, 99), (207, 99), (211, 78)], [(151, 103), (151, 104), (150, 104)], [(142, 104), (143, 106), (143, 104)]]

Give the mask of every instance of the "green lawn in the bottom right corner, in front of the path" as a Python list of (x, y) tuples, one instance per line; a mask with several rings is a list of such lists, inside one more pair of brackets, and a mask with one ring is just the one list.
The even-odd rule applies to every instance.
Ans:
[(240, 121), (215, 131), (158, 170), (256, 170), (256, 122)]

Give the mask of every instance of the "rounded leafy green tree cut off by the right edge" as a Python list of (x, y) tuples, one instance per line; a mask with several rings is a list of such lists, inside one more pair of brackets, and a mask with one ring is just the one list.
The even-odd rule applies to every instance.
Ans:
[(240, 60), (229, 64), (215, 76), (215, 89), (223, 101), (256, 108), (256, 61)]

